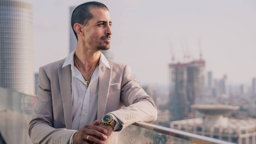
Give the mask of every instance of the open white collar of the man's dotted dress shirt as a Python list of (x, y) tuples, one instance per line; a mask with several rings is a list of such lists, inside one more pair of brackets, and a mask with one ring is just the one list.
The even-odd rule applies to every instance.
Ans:
[[(65, 67), (65, 66), (67, 66), (67, 65), (73, 66), (73, 64), (74, 64), (74, 59), (73, 59), (73, 57), (74, 57), (75, 51), (76, 51), (76, 50), (74, 50), (73, 52), (71, 52), (71, 53), (66, 57), (65, 62), (63, 63), (62, 68)], [(101, 67), (103, 66), (103, 64), (104, 64), (108, 69), (110, 69), (110, 65), (109, 65), (109, 63), (108, 63), (108, 60), (107, 60), (106, 57), (100, 52), (100, 64), (99, 64), (99, 67), (101, 68)]]

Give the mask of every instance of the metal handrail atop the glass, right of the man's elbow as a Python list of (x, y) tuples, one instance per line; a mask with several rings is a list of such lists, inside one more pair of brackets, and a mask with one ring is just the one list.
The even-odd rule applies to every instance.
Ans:
[(140, 122), (135, 122), (133, 125), (141, 127), (141, 128), (145, 128), (145, 129), (148, 129), (148, 130), (156, 131), (156, 132), (159, 132), (159, 133), (163, 133), (165, 135), (169, 135), (169, 136), (172, 136), (172, 137), (177, 137), (177, 138), (180, 138), (180, 139), (195, 142), (195, 143), (198, 143), (198, 144), (235, 144), (235, 143), (232, 143), (232, 142), (227, 142), (227, 141), (223, 141), (223, 140), (209, 138), (209, 137), (206, 137), (206, 136), (196, 135), (194, 133), (189, 133), (189, 132), (180, 131), (180, 130), (176, 130), (176, 129), (171, 129), (171, 128), (167, 128), (167, 127), (161, 127), (161, 126), (157, 126), (157, 125), (153, 125), (153, 124), (148, 124), (146, 122), (141, 122), (141, 121)]

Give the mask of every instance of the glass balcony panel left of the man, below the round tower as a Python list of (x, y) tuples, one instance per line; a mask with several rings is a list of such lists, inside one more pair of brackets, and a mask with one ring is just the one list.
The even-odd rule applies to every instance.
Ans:
[(34, 101), (35, 96), (0, 87), (0, 132), (6, 144), (32, 143), (28, 136), (28, 123)]

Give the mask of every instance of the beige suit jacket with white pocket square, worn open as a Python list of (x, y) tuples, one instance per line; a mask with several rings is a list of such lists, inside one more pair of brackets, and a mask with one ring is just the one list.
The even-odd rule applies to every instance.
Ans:
[[(71, 68), (62, 68), (65, 59), (39, 68), (38, 93), (29, 123), (33, 143), (66, 144), (72, 129)], [(137, 121), (157, 119), (153, 100), (136, 83), (129, 65), (108, 60), (110, 69), (102, 66), (99, 76), (98, 120), (111, 112), (123, 128)], [(117, 85), (111, 85), (119, 83)], [(121, 108), (122, 106), (125, 106)], [(121, 109), (120, 109), (121, 108)], [(128, 118), (135, 115), (136, 118)], [(118, 132), (112, 132), (106, 143), (117, 143)]]

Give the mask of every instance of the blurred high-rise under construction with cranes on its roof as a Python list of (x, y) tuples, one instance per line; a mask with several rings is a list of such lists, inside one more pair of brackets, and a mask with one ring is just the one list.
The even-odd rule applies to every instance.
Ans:
[(203, 103), (205, 61), (169, 64), (171, 120), (194, 117), (190, 106)]

